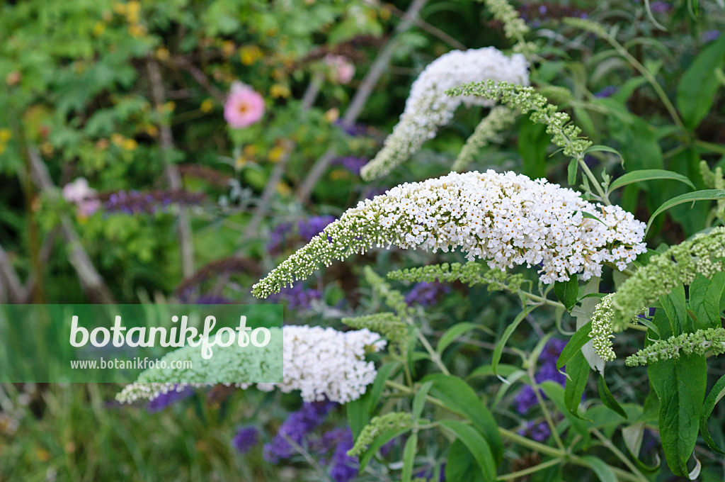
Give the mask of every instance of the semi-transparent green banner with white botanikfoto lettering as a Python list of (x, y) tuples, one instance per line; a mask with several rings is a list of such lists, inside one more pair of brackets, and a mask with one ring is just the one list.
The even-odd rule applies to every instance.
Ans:
[(0, 305), (0, 383), (281, 382), (282, 317), (272, 304)]

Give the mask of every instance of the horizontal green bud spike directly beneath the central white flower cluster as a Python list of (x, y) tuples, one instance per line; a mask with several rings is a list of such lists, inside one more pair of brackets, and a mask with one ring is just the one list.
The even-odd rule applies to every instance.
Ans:
[(525, 281), (523, 274), (508, 274), (500, 269), (488, 269), (486, 266), (469, 261), (466, 264), (444, 263), (418, 268), (400, 269), (388, 273), (389, 279), (410, 282), (454, 282), (460, 281), (468, 286), (489, 285), (489, 291), (506, 290), (518, 292)]

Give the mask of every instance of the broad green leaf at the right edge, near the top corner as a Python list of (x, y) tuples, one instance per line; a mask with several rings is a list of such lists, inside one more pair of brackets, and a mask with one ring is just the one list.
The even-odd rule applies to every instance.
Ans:
[(725, 62), (725, 37), (718, 38), (695, 57), (677, 84), (677, 109), (689, 129), (708, 115), (718, 90), (715, 69)]

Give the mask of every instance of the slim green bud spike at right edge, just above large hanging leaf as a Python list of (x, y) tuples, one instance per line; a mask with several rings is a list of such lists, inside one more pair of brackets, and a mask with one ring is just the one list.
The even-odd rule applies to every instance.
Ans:
[(713, 355), (725, 353), (725, 329), (697, 330), (694, 333), (682, 333), (667, 340), (655, 341), (647, 348), (627, 357), (626, 364), (628, 367), (637, 367), (637, 365), (676, 359), (682, 354), (704, 355), (708, 351)]

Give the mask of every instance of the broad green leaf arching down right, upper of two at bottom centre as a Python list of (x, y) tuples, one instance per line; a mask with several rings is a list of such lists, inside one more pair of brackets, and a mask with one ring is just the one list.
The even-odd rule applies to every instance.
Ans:
[(497, 463), (503, 458), (503, 444), (498, 433), (498, 423), (484, 402), (479, 399), (471, 385), (458, 377), (434, 373), (423, 378), (423, 382), (433, 381), (431, 395), (443, 402), (451, 412), (463, 415), (471, 420), (473, 428), (481, 432), (491, 447), (491, 453)]

